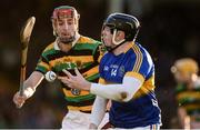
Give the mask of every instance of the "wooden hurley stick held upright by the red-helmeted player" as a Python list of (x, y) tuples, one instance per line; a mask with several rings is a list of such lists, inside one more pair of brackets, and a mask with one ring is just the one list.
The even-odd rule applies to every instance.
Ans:
[[(36, 18), (30, 17), (20, 32), (20, 41), (21, 41), (21, 72), (20, 72), (20, 89), (19, 94), (23, 96), (23, 81), (26, 80), (26, 67), (27, 67), (27, 53), (28, 53), (28, 46), (30, 41), (30, 37), (32, 33), (32, 29), (34, 27)], [(17, 106), (21, 108), (21, 106)]]

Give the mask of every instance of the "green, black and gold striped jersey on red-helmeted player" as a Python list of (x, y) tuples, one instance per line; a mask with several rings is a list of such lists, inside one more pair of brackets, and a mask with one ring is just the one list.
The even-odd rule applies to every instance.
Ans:
[[(58, 46), (57, 42), (53, 42), (43, 50), (36, 71), (46, 74), (46, 72), (52, 70), (58, 76), (64, 76), (62, 69), (67, 69), (74, 74), (74, 68), (78, 68), (88, 81), (98, 82), (99, 60), (102, 57), (101, 42), (81, 36), (68, 52), (60, 51), (56, 46)], [(69, 110), (91, 110), (96, 98), (93, 94), (88, 91), (70, 89), (64, 84), (62, 84), (62, 88)]]

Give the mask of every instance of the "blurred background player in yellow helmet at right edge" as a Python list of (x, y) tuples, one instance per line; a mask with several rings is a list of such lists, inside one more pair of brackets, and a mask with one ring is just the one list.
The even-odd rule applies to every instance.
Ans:
[(178, 119), (182, 129), (200, 128), (200, 77), (199, 66), (192, 58), (176, 60), (171, 72), (177, 82), (176, 99)]

